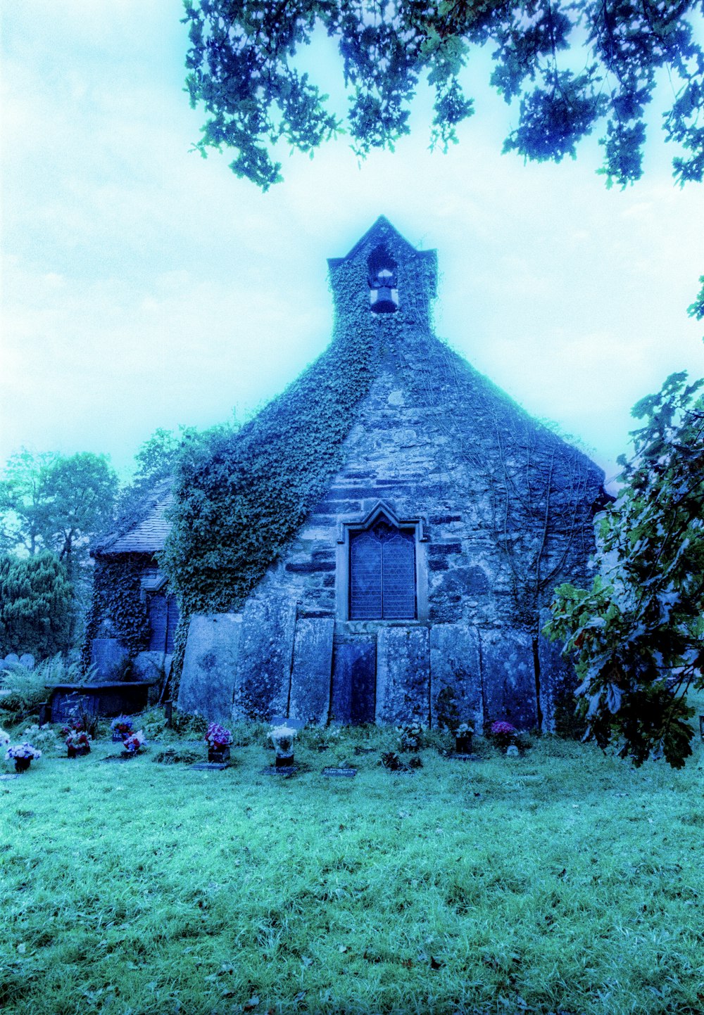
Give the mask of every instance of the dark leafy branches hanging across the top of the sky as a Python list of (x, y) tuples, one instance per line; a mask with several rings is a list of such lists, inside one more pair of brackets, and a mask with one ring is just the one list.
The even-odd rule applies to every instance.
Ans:
[[(271, 146), (312, 152), (339, 131), (354, 150), (391, 147), (409, 131), (425, 77), (435, 93), (431, 145), (447, 147), (473, 113), (461, 74), (472, 48), (493, 47), (491, 83), (518, 103), (504, 150), (574, 156), (600, 125), (600, 173), (625, 186), (642, 173), (645, 114), (658, 72), (675, 91), (663, 117), (679, 183), (704, 176), (704, 54), (692, 16), (702, 0), (184, 0), (187, 87), (208, 119), (196, 147), (236, 152), (233, 171), (263, 190), (281, 179)], [(337, 42), (346, 127), (297, 65), (317, 27)]]

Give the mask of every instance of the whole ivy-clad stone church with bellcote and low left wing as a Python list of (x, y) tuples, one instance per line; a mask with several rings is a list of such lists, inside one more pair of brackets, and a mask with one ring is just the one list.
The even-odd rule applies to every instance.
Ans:
[[(415, 250), (382, 217), (328, 264), (330, 346), (237, 443), (177, 483), (175, 548), (167, 539), (163, 552), (164, 491), (101, 547), (106, 574), (131, 555), (142, 624), (132, 655), (172, 648), (162, 628), (173, 627), (175, 592), (174, 687), (185, 710), (226, 722), (469, 721), (478, 731), (507, 720), (552, 730), (573, 677), (540, 628), (555, 587), (589, 580), (603, 473), (435, 336), (434, 251)], [(287, 480), (277, 471), (286, 462)], [(252, 499), (267, 481), (258, 472), (276, 472), (270, 510)], [(315, 482), (294, 499), (309, 472)], [(236, 559), (235, 544), (256, 547), (255, 515), (266, 516), (264, 533), (278, 532), (269, 516), (289, 501), (285, 538), (271, 537), (243, 584), (250, 551)], [(201, 552), (208, 540), (221, 567)], [(211, 585), (211, 599), (195, 588)], [(150, 624), (149, 609), (164, 623)], [(104, 612), (110, 646), (129, 649)]]

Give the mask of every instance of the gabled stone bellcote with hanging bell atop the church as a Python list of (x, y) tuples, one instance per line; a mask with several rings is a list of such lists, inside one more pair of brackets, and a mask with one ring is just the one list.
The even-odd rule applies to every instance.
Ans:
[(360, 317), (380, 324), (430, 325), (437, 295), (435, 251), (419, 251), (381, 215), (341, 258), (329, 258), (335, 317), (339, 323)]

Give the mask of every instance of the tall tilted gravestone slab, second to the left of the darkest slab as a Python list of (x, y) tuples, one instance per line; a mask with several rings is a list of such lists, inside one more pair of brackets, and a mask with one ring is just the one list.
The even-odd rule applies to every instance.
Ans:
[(233, 717), (268, 721), (289, 707), (296, 600), (280, 591), (247, 601), (235, 675)]

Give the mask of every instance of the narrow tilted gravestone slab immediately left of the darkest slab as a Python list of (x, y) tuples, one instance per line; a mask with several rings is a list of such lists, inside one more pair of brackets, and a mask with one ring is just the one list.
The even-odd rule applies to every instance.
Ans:
[(332, 618), (297, 621), (289, 706), (289, 715), (294, 719), (327, 723), (334, 627)]

